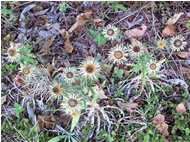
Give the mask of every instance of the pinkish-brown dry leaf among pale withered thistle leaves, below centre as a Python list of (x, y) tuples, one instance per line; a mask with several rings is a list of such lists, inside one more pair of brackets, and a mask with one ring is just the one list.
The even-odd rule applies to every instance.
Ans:
[(134, 111), (134, 109), (136, 109), (138, 107), (137, 103), (133, 103), (133, 102), (121, 102), (121, 101), (117, 101), (117, 105), (121, 108), (126, 108), (127, 111), (129, 113), (132, 113)]

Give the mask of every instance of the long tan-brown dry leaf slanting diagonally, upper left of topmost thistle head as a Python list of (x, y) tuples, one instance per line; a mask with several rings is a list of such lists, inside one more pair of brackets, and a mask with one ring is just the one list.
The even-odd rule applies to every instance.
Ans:
[(85, 13), (81, 13), (80, 15), (78, 15), (76, 17), (76, 23), (73, 24), (71, 26), (71, 28), (68, 30), (69, 33), (72, 33), (76, 28), (78, 28), (79, 26), (82, 26), (85, 24), (85, 21), (87, 19), (91, 19), (92, 18), (92, 11), (87, 11)]

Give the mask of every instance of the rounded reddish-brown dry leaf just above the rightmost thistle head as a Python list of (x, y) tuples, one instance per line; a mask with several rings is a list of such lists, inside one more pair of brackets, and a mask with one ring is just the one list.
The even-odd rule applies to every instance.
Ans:
[(162, 31), (163, 37), (174, 36), (175, 34), (176, 34), (176, 26), (174, 25), (167, 25)]

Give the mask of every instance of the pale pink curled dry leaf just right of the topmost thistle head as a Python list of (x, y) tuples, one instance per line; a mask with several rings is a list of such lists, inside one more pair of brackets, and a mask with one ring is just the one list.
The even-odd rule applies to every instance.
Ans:
[(147, 30), (147, 26), (145, 24), (141, 25), (140, 27), (141, 29), (138, 28), (134, 28), (132, 30), (126, 31), (125, 34), (128, 37), (133, 37), (133, 38), (140, 38), (142, 36), (144, 36), (146, 30)]

